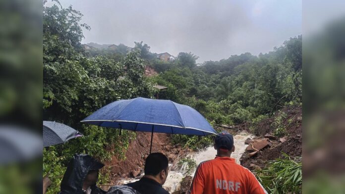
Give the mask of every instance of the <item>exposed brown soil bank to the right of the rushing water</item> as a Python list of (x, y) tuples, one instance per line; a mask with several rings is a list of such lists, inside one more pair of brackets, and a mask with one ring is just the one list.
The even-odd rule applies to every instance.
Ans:
[[(287, 130), (285, 137), (287, 141), (281, 143), (279, 140), (270, 140), (271, 146), (261, 150), (257, 155), (249, 157), (248, 154), (243, 154), (240, 160), (242, 166), (249, 169), (252, 169), (254, 165), (263, 168), (268, 160), (281, 158), (282, 152), (291, 157), (302, 155), (302, 108), (285, 107), (282, 112), (287, 114), (283, 121)], [(272, 135), (274, 130), (272, 123), (275, 117), (264, 119), (256, 126), (255, 135), (258, 136), (258, 139), (263, 138), (266, 134)]]

